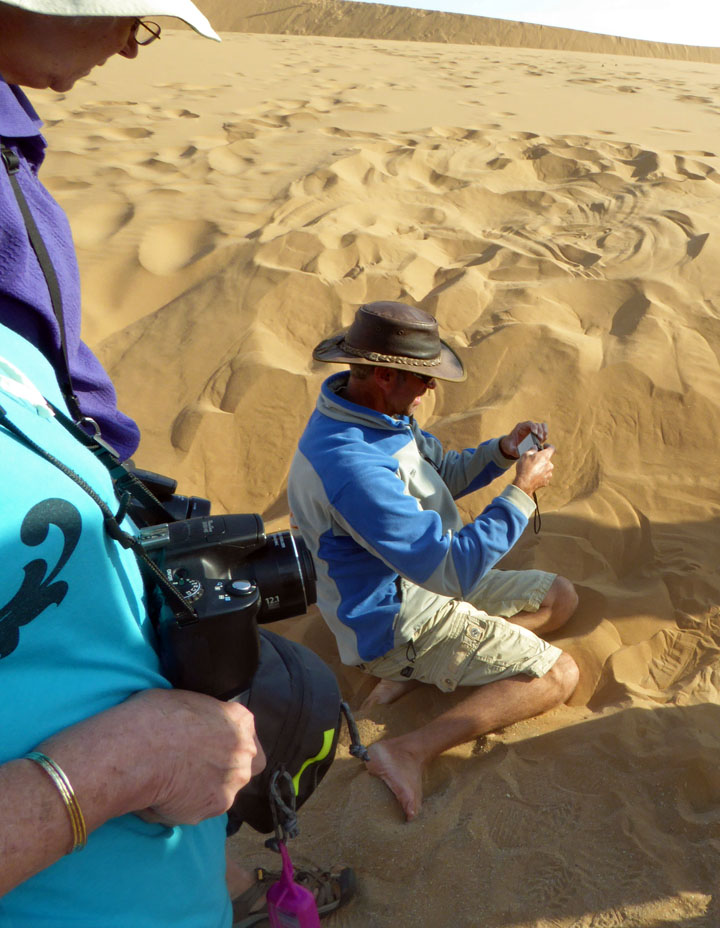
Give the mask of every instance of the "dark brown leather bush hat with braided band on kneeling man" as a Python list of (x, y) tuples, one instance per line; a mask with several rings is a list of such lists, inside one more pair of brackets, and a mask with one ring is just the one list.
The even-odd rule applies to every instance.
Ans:
[(437, 320), (405, 303), (366, 303), (353, 324), (313, 350), (316, 361), (372, 364), (438, 380), (465, 380), (462, 361), (440, 338)]

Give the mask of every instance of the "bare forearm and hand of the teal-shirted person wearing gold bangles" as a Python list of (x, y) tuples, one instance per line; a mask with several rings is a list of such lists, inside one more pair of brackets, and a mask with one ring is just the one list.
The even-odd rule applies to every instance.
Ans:
[[(88, 833), (128, 812), (168, 825), (220, 815), (265, 763), (247, 709), (183, 690), (145, 690), (36, 750), (67, 775)], [(45, 771), (27, 759), (0, 766), (0, 895), (71, 847), (67, 810)]]

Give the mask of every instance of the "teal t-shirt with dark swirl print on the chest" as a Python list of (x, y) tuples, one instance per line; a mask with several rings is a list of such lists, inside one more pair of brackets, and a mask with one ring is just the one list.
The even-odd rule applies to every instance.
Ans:
[[(35, 388), (64, 408), (45, 358), (0, 325), (0, 405), (8, 418), (117, 511), (106, 469), (48, 415)], [(97, 504), (2, 426), (0, 481), (5, 762), (138, 690), (170, 684), (152, 646), (135, 556), (107, 536)], [(0, 925), (228, 928), (225, 821), (166, 828), (134, 815), (112, 819), (85, 850), (1, 898)]]

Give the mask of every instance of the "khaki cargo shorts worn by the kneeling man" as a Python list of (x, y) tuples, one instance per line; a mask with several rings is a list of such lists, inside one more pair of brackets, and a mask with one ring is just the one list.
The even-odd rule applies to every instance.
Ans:
[(451, 600), (412, 641), (362, 669), (385, 680), (432, 683), (445, 693), (521, 673), (542, 677), (562, 651), (508, 618), (537, 612), (556, 576), (542, 570), (491, 570), (472, 603)]

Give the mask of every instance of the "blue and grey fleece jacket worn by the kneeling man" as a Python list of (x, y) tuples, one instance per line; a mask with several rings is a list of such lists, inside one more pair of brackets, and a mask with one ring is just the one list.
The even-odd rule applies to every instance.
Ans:
[(360, 664), (410, 641), (449, 600), (472, 598), (522, 534), (534, 503), (510, 485), (464, 525), (454, 500), (514, 463), (499, 439), (444, 452), (412, 417), (338, 396), (347, 379), (341, 372), (322, 385), (288, 498), (340, 658)]

